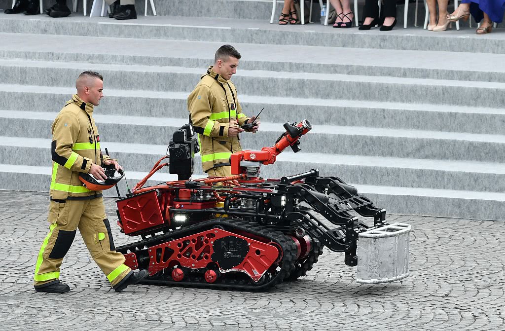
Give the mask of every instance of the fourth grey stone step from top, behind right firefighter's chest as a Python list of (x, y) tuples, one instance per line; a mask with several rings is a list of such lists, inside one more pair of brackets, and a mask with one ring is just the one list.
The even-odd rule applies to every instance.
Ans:
[[(72, 93), (75, 93), (72, 87), (0, 84), (0, 109), (55, 112)], [(188, 115), (186, 99), (189, 92), (106, 89), (105, 93), (96, 115), (157, 117), (170, 114), (183, 119)], [(36, 108), (33, 107), (35, 104)], [(274, 123), (307, 118), (314, 125), (334, 123), (340, 126), (505, 134), (505, 110), (502, 108), (247, 95), (240, 96), (240, 104), (248, 115), (265, 108), (262, 118)]]

